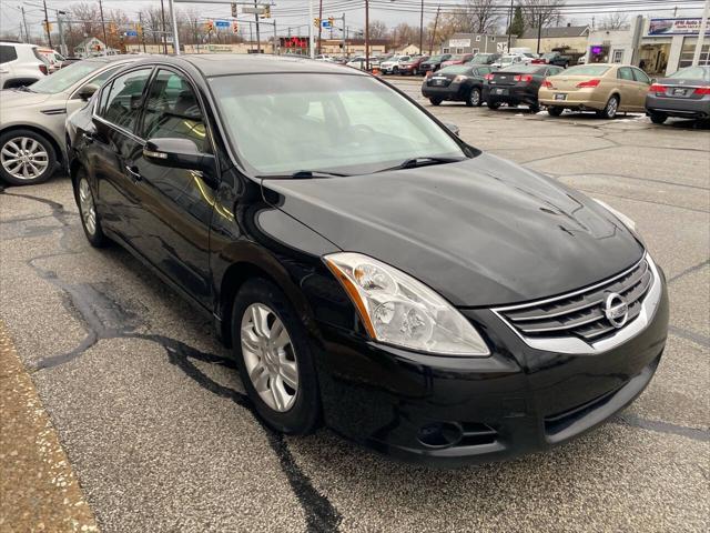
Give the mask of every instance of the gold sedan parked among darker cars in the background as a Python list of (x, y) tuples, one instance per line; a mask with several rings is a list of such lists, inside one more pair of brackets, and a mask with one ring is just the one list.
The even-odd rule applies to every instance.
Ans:
[(619, 111), (646, 112), (646, 93), (651, 80), (629, 64), (592, 63), (571, 67), (547, 78), (538, 100), (547, 112), (559, 117), (565, 109), (596, 111), (613, 119)]

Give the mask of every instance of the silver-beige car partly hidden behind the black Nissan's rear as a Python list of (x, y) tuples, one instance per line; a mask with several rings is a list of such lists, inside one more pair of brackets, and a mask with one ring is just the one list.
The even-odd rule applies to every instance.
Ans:
[(64, 121), (111, 74), (138, 56), (93, 58), (70, 64), (31, 87), (0, 95), (0, 179), (11, 185), (49, 180), (67, 161)]

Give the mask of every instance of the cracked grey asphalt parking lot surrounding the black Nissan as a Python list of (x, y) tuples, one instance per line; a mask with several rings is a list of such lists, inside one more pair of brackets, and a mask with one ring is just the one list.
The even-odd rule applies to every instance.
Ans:
[[(426, 103), (418, 81), (395, 83)], [(636, 220), (671, 299), (648, 390), (552, 451), (454, 471), (396, 463), (328, 430), (275, 435), (210, 324), (128, 252), (89, 247), (65, 177), (10, 188), (0, 319), (102, 531), (708, 531), (710, 131), (427, 109), (470, 144)]]

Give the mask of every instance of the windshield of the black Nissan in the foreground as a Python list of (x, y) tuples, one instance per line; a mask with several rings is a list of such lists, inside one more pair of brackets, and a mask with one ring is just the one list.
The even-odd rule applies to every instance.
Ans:
[(362, 174), (467, 157), (449, 132), (371, 77), (242, 74), (212, 78), (210, 87), (230, 142), (258, 175)]

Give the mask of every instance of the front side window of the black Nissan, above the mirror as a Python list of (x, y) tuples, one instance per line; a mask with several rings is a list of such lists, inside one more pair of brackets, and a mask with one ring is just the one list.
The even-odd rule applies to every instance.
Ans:
[(209, 151), (197, 95), (185, 78), (170, 70), (158, 71), (145, 101), (143, 137), (189, 139)]

